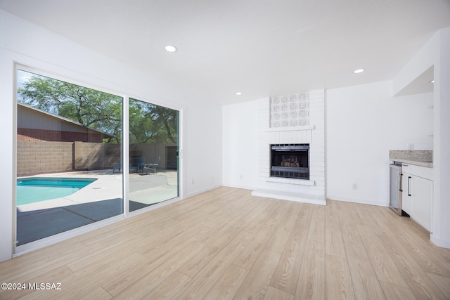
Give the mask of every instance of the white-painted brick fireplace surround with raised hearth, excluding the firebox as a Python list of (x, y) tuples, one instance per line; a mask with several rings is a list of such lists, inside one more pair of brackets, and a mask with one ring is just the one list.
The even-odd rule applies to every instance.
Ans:
[[(325, 205), (325, 91), (264, 98), (258, 107), (258, 186), (252, 195)], [(309, 144), (309, 180), (271, 176), (274, 144)]]

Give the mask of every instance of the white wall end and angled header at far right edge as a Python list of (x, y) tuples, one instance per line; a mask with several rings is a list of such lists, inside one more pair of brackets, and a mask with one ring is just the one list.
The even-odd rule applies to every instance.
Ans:
[(430, 240), (450, 248), (450, 27), (439, 30), (394, 78), (398, 93), (433, 66), (433, 213)]

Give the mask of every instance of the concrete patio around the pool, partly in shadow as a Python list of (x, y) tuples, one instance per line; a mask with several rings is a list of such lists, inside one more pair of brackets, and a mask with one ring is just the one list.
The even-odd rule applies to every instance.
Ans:
[[(18, 245), (122, 214), (122, 174), (112, 170), (41, 174), (33, 177), (97, 178), (67, 197), (17, 207)], [(130, 174), (130, 211), (178, 196), (176, 171)]]

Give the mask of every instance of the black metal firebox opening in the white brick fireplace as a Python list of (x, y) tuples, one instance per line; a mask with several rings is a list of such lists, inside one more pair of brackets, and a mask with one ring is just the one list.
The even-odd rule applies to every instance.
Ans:
[(271, 177), (309, 180), (309, 144), (277, 144), (271, 148)]

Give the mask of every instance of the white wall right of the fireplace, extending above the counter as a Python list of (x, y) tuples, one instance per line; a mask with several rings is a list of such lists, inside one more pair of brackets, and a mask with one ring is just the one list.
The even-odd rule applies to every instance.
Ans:
[(432, 149), (432, 93), (391, 95), (390, 81), (326, 91), (328, 198), (387, 206), (389, 150)]

